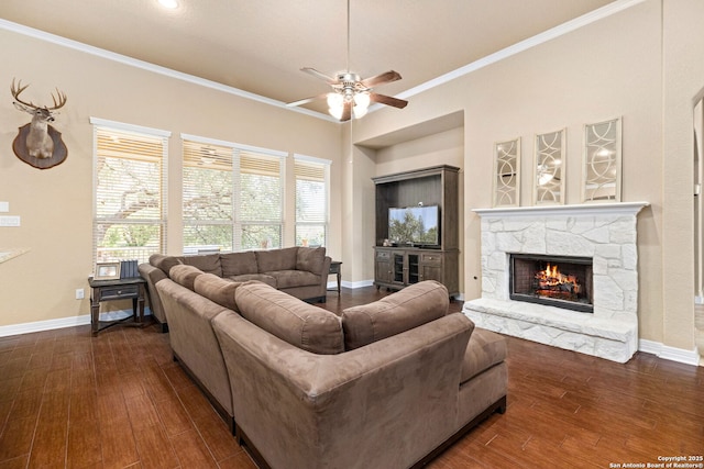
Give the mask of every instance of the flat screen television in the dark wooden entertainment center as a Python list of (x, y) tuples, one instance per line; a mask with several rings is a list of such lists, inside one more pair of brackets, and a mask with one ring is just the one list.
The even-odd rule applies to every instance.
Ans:
[(398, 245), (438, 247), (440, 206), (419, 205), (388, 209), (388, 241)]

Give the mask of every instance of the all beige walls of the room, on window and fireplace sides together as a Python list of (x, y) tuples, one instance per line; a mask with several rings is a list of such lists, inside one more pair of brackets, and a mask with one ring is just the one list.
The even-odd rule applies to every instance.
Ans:
[[(2, 22), (0, 82), (9, 88), (22, 78), (37, 96), (55, 87), (66, 92), (68, 103), (55, 127), (68, 158), (38, 170), (14, 157), (12, 141), (26, 115), (6, 94), (0, 201), (9, 203), (3, 215), (20, 216), (21, 226), (0, 227), (0, 252), (22, 254), (0, 264), (0, 335), (89, 322), (89, 300), (77, 300), (75, 292), (88, 289), (94, 270), (91, 118), (170, 132), (170, 254), (183, 250), (182, 134), (332, 160), (327, 249), (343, 263), (343, 287), (351, 289), (374, 277), (372, 177), (440, 164), (460, 167), (464, 300), (482, 295), (481, 219), (473, 210), (492, 206), (494, 144), (522, 139), (524, 181), (530, 181), (532, 138), (565, 129), (565, 199), (568, 205), (580, 204), (583, 125), (620, 118), (622, 200), (649, 204), (638, 215), (639, 348), (697, 365), (692, 129), (694, 103), (704, 96), (698, 24), (704, 4), (614, 3), (608, 14), (549, 41), (470, 64), (457, 77), (418, 91), (403, 111), (371, 112), (352, 125)], [(529, 182), (520, 196), (521, 205), (530, 205)], [(285, 225), (293, 223), (292, 212), (286, 211)], [(294, 244), (290, 231), (283, 244)]]

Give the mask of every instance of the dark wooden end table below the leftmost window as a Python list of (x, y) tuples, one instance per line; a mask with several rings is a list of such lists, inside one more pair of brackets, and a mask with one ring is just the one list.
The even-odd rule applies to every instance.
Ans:
[[(113, 325), (144, 326), (144, 297), (146, 281), (142, 277), (95, 280), (88, 278), (90, 284), (90, 325), (96, 336)], [(113, 300), (132, 300), (132, 315), (117, 321), (100, 321), (100, 302)]]

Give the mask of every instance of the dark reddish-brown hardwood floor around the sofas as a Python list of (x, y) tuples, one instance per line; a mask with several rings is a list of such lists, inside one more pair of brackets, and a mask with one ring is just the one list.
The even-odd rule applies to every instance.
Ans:
[[(322, 306), (384, 294), (343, 289)], [(509, 338), (508, 368), (506, 413), (429, 467), (646, 467), (704, 455), (702, 367), (641, 353), (620, 365)], [(0, 337), (0, 468), (35, 467), (255, 466), (172, 360), (168, 334), (151, 325), (91, 337), (86, 325)]]

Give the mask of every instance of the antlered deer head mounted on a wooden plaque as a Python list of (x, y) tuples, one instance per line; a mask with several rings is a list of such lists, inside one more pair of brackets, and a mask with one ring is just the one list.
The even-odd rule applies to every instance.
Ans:
[(12, 79), (10, 92), (14, 98), (14, 107), (32, 115), (32, 122), (20, 127), (12, 143), (12, 149), (18, 158), (28, 165), (40, 169), (51, 168), (64, 163), (68, 154), (61, 132), (48, 124), (54, 122), (56, 110), (66, 104), (66, 94), (56, 89), (56, 96), (52, 93), (54, 105), (41, 107), (20, 99), (20, 93), (28, 87), (29, 85), (22, 86), (22, 80), (15, 85)]

